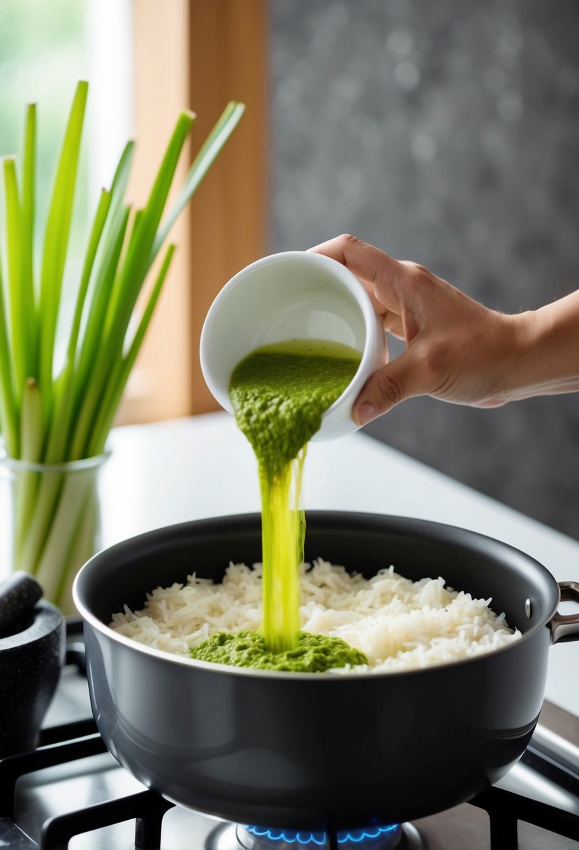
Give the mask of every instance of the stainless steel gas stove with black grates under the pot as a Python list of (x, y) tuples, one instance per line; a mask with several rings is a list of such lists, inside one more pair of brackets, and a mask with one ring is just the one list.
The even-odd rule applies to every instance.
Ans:
[(323, 833), (230, 824), (179, 808), (106, 750), (84, 676), (82, 624), (37, 750), (0, 761), (10, 850), (571, 850), (579, 848), (579, 718), (545, 704), (524, 756), (469, 803), (402, 825)]

